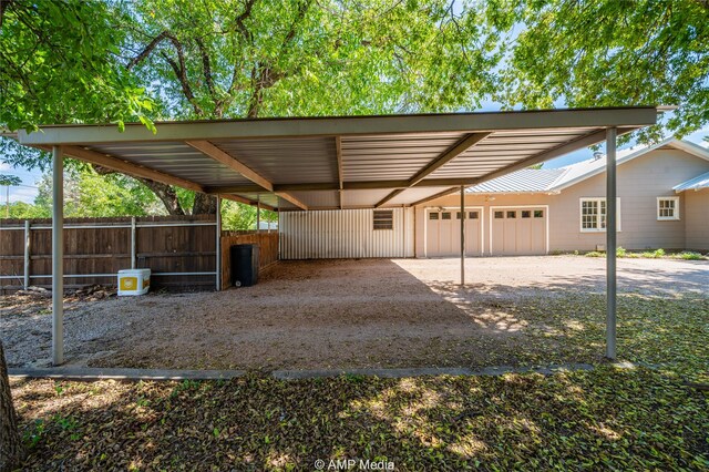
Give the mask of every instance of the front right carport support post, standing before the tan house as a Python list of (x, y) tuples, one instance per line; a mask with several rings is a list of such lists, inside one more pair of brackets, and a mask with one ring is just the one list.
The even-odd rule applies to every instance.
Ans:
[(617, 130), (606, 131), (606, 357), (616, 358), (616, 136)]

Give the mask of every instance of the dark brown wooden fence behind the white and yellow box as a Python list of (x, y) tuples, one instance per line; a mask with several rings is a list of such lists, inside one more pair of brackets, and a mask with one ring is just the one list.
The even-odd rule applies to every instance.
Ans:
[[(51, 219), (0, 220), (0, 290), (51, 287)], [(214, 289), (214, 216), (65, 218), (66, 288), (113, 286), (120, 269), (150, 268), (152, 289)]]

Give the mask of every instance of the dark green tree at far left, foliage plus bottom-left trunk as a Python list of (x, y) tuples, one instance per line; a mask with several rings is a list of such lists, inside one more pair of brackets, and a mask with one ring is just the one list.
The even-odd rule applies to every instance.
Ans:
[[(81, 0), (0, 0), (0, 130), (35, 130), (43, 123), (116, 123), (141, 120), (152, 102), (119, 63), (123, 30), (115, 9)], [(12, 156), (47, 162), (37, 153)], [(0, 369), (6, 372), (4, 356)], [(9, 384), (0, 384), (2, 466), (12, 468), (21, 450)], [(9, 430), (6, 431), (6, 428)], [(7, 441), (7, 442), (6, 442)], [(8, 453), (9, 455), (4, 455)]]

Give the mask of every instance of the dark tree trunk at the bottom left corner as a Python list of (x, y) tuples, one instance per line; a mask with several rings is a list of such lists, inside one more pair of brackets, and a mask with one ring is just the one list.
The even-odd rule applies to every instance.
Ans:
[(0, 472), (16, 470), (24, 458), (24, 445), (18, 431), (18, 418), (10, 394), (8, 363), (0, 340)]

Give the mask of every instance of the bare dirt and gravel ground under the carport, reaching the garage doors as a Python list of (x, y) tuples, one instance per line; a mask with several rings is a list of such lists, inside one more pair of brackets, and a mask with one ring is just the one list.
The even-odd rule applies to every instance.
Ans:
[[(603, 291), (605, 259), (475, 258), (464, 288), (459, 277), (458, 259), (281, 261), (254, 287), (70, 300), (65, 355), (70, 365), (91, 367), (515, 365), (538, 359), (520, 352), (551, 330), (538, 315), (548, 300)], [(706, 297), (709, 263), (619, 259), (618, 283), (623, 293)], [(555, 306), (571, 311), (568, 325), (579, 304)], [(0, 308), (10, 367), (48, 366), (49, 300), (6, 296)], [(562, 348), (543, 343), (537, 353)]]

